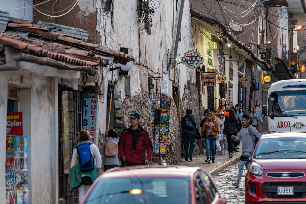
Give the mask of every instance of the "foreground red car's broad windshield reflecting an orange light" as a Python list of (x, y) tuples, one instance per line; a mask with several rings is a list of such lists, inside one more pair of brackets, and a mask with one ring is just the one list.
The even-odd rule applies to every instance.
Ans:
[[(133, 189), (140, 191), (131, 191)], [(102, 178), (92, 189), (85, 203), (187, 204), (190, 203), (190, 178)]]

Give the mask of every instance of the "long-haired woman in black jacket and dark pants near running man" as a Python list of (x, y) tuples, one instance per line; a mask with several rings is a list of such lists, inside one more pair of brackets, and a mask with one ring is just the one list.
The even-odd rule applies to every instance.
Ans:
[(226, 135), (227, 143), (230, 149), (230, 158), (233, 158), (234, 140), (231, 138), (232, 135), (237, 135), (239, 130), (239, 122), (235, 116), (234, 110), (230, 110), (230, 116), (225, 118), (223, 136)]

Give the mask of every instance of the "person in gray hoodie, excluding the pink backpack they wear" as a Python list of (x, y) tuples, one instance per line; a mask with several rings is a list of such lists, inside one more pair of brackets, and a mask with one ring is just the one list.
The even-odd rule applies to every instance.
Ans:
[[(108, 157), (108, 156), (105, 155), (105, 146), (106, 146), (106, 143), (109, 140), (114, 140), (117, 143), (117, 154), (113, 157)], [(102, 143), (102, 147), (101, 147), (101, 150), (100, 150), (101, 155), (104, 155), (103, 160), (102, 160), (102, 165), (103, 165), (103, 171), (104, 172), (108, 169), (119, 166), (118, 143), (119, 143), (119, 140), (117, 139), (117, 132), (114, 129), (110, 129), (107, 133), (107, 137), (104, 139), (104, 141)]]

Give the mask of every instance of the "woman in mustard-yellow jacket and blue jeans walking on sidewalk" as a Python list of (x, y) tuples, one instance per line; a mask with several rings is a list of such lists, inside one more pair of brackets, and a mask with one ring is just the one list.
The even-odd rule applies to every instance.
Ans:
[(206, 160), (210, 163), (210, 149), (212, 149), (211, 163), (215, 163), (216, 141), (218, 140), (218, 122), (214, 120), (211, 112), (207, 113), (208, 120), (204, 122), (202, 131), (206, 131)]

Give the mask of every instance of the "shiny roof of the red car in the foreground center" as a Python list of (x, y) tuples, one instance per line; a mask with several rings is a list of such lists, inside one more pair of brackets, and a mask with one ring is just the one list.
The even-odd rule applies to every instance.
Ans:
[(206, 170), (201, 167), (187, 167), (187, 166), (176, 166), (176, 165), (140, 165), (140, 166), (129, 166), (129, 167), (117, 167), (112, 168), (102, 174), (103, 178), (116, 178), (116, 177), (138, 177), (138, 176), (156, 176), (161, 175), (162, 177), (180, 176), (188, 177), (193, 175), (195, 172), (203, 170), (208, 174)]

